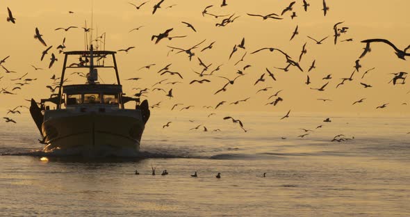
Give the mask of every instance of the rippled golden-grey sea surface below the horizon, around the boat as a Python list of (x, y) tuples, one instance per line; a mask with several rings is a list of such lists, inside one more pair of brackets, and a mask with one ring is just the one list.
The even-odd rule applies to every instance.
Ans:
[[(28, 113), (10, 116), (17, 124), (0, 123), (0, 216), (410, 215), (410, 118), (207, 115), (153, 111), (142, 159), (50, 156)], [(190, 130), (199, 124), (208, 131)], [(300, 128), (314, 131), (300, 138)], [(338, 134), (354, 139), (331, 142)]]

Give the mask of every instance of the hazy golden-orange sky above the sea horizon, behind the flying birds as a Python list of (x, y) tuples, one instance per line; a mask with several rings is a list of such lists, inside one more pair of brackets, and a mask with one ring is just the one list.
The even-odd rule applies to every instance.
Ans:
[[(322, 1), (308, 0), (311, 6), (305, 12), (302, 8), (302, 0), (297, 1), (293, 6), (293, 11), (297, 17), (290, 19), (292, 12), (288, 11), (283, 16), (284, 19), (267, 19), (261, 17), (250, 17), (247, 13), (266, 15), (277, 13), (289, 5), (291, 1), (283, 0), (259, 0), (259, 1), (234, 1), (227, 0), (228, 6), (220, 7), (222, 1), (192, 1), (192, 0), (165, 0), (155, 15), (151, 15), (153, 6), (157, 1), (149, 1), (140, 10), (136, 10), (131, 3), (140, 4), (143, 1), (1, 1), (0, 3), (0, 59), (10, 55), (3, 65), (8, 70), (16, 71), (17, 74), (6, 74), (0, 68), (0, 87), (11, 90), (16, 85), (15, 79), (26, 72), (26, 78), (38, 78), (30, 85), (22, 87), (22, 90), (15, 90), (17, 95), (0, 95), (2, 99), (1, 107), (10, 109), (19, 104), (26, 104), (24, 99), (47, 98), (51, 94), (45, 86), (51, 83), (49, 79), (53, 74), (58, 77), (61, 73), (63, 55), (58, 54), (56, 47), (66, 38), (65, 51), (78, 50), (84, 48), (84, 33), (82, 29), (70, 29), (69, 31), (54, 31), (58, 27), (85, 25), (91, 23), (91, 8), (93, 6), (93, 29), (94, 36), (106, 33), (106, 49), (117, 50), (134, 46), (128, 54), (120, 52), (117, 54), (117, 63), (120, 69), (120, 77), (124, 93), (133, 95), (132, 88), (151, 88), (151, 86), (161, 79), (168, 81), (182, 81), (175, 85), (161, 85), (159, 88), (167, 92), (173, 89), (173, 99), (168, 99), (163, 91), (148, 93), (147, 98), (150, 104), (162, 101), (161, 109), (170, 110), (173, 104), (183, 103), (184, 105), (195, 105), (196, 109), (204, 105), (215, 106), (218, 102), (227, 101), (221, 106), (221, 110), (232, 111), (278, 111), (286, 112), (289, 109), (295, 112), (350, 112), (350, 113), (407, 113), (408, 106), (402, 105), (409, 102), (410, 90), (408, 83), (393, 86), (388, 83), (396, 72), (409, 72), (409, 61), (398, 59), (393, 53), (393, 49), (388, 45), (377, 43), (372, 44), (372, 52), (361, 59), (362, 67), (360, 72), (356, 72), (353, 81), (347, 81), (343, 86), (336, 89), (336, 85), (341, 82), (341, 78), (350, 77), (354, 70), (354, 61), (359, 58), (363, 47), (361, 40), (369, 38), (385, 38), (393, 42), (400, 49), (410, 45), (409, 41), (409, 19), (406, 19), (407, 10), (410, 8), (410, 1), (327, 1), (330, 10), (327, 16), (323, 16)], [(176, 4), (176, 6), (172, 6)], [(202, 10), (206, 6), (213, 5), (208, 9), (208, 13), (216, 15), (238, 15), (233, 23), (224, 27), (215, 26), (220, 23), (223, 17), (216, 19), (209, 15), (202, 16)], [(167, 8), (172, 6), (172, 8)], [(6, 22), (7, 7), (13, 11), (16, 24)], [(72, 10), (74, 14), (69, 14)], [(189, 22), (197, 32), (195, 33), (181, 22)], [(336, 22), (344, 22), (340, 26), (347, 26), (347, 33), (342, 33), (340, 40), (353, 38), (353, 42), (333, 43), (333, 26)], [(289, 41), (296, 26), (299, 26), (299, 35)], [(129, 31), (138, 26), (144, 26), (138, 31)], [(47, 45), (53, 45), (49, 54), (40, 61), (41, 53), (46, 47), (33, 38), (35, 27), (40, 29)], [(186, 38), (174, 38), (172, 40), (163, 39), (158, 45), (151, 42), (151, 35), (158, 35), (166, 29), (174, 28), (170, 36), (187, 35)], [(321, 39), (329, 36), (323, 45), (316, 45), (315, 42), (306, 36)], [(245, 38), (245, 50), (238, 49), (229, 60), (229, 54), (234, 45), (238, 45)], [(195, 56), (189, 61), (185, 53), (176, 54), (170, 52), (170, 48), (180, 47), (183, 49), (206, 40), (198, 49), (194, 49)], [(201, 49), (214, 42), (213, 49), (200, 52)], [(285, 51), (293, 60), (297, 61), (302, 50), (302, 45), (307, 42), (305, 54), (300, 61), (304, 72), (300, 72), (295, 67), (290, 67), (288, 72), (277, 70), (274, 67), (285, 67), (284, 56), (277, 51), (261, 51), (250, 54), (262, 47), (275, 47)], [(244, 61), (234, 65), (247, 52)], [(58, 62), (51, 70), (47, 69), (51, 53), (56, 54)], [(212, 77), (199, 78), (192, 72), (202, 71), (197, 57), (206, 64), (211, 64), (210, 70), (222, 65), (221, 70), (214, 72)], [(410, 57), (409, 57), (410, 58)], [(312, 61), (315, 60), (316, 68), (307, 72)], [(150, 70), (138, 69), (145, 65), (155, 63)], [(164, 74), (160, 76), (156, 72), (165, 65), (172, 63), (170, 71), (180, 72), (183, 80), (178, 77)], [(46, 70), (35, 71), (31, 65), (43, 67)], [(238, 70), (243, 70), (245, 65), (252, 65), (243, 71), (244, 77), (235, 81), (233, 86), (228, 86), (227, 91), (214, 95), (226, 83), (225, 79), (218, 76), (234, 78)], [(254, 86), (255, 81), (265, 73), (267, 68), (274, 73), (277, 81), (272, 81), (268, 74), (265, 74), (265, 82), (260, 82)], [(375, 67), (364, 79), (361, 79), (363, 72)], [(67, 74), (69, 80), (84, 82), (85, 79), (76, 75)], [(332, 79), (323, 80), (327, 74), (331, 74)], [(306, 75), (309, 75), (311, 84), (306, 86)], [(113, 83), (109, 76), (100, 73), (106, 83)], [(140, 77), (139, 81), (124, 81), (131, 77)], [(209, 79), (211, 83), (188, 84), (192, 79)], [(329, 81), (325, 91), (319, 92), (310, 88), (320, 88)], [(372, 85), (372, 88), (363, 88), (360, 82)], [(73, 83), (73, 82), (72, 82)], [(267, 92), (257, 93), (256, 91), (272, 87)], [(284, 99), (277, 106), (268, 105), (276, 97), (268, 100), (277, 90), (283, 90), (279, 96)], [(229, 105), (236, 100), (250, 99), (242, 104)], [(322, 102), (318, 98), (332, 99), (331, 102)], [(361, 98), (366, 98), (362, 104), (352, 106), (352, 103)], [(375, 109), (384, 103), (389, 103), (388, 107), (382, 111)], [(409, 102), (410, 103), (410, 102)], [(133, 106), (130, 105), (129, 106)]]

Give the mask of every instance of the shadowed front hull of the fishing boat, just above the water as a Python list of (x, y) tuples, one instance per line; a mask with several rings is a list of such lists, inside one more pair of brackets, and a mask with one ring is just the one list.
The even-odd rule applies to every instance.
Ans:
[(145, 122), (139, 111), (51, 116), (42, 124), (44, 152), (99, 156), (140, 149)]

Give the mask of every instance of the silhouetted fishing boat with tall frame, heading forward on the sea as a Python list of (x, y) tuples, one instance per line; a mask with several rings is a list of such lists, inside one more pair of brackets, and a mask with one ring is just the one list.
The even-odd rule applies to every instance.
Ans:
[[(116, 52), (93, 50), (91, 45), (89, 50), (64, 54), (58, 94), (40, 103), (31, 99), (30, 113), (43, 151), (92, 156), (138, 152), (149, 105), (147, 99), (140, 102), (122, 93)], [(68, 70), (85, 70), (85, 83), (64, 85)], [(115, 72), (116, 83), (99, 83), (98, 70)], [(125, 109), (128, 102), (135, 102), (135, 109)]]

